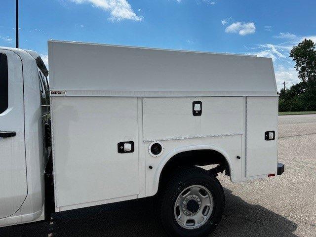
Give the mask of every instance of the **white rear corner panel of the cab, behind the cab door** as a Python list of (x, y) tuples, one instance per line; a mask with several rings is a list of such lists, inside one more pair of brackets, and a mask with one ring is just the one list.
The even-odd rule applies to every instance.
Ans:
[(28, 195), (20, 209), (20, 222), (44, 218), (43, 129), (38, 67), (32, 55), (17, 51), (23, 61), (24, 76), (24, 126), (27, 164)]

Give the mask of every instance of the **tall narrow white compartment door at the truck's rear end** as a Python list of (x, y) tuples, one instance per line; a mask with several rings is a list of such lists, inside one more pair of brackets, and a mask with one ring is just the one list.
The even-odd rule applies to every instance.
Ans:
[[(246, 176), (276, 174), (278, 98), (247, 97)], [(266, 131), (276, 139), (265, 140)]]

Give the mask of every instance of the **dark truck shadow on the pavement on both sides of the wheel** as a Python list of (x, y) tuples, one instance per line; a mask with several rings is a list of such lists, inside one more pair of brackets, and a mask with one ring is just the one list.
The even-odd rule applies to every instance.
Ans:
[[(225, 213), (211, 237), (296, 237), (295, 223), (224, 191)], [(55, 213), (51, 222), (1, 228), (0, 237), (161, 237), (152, 203), (143, 198)]]

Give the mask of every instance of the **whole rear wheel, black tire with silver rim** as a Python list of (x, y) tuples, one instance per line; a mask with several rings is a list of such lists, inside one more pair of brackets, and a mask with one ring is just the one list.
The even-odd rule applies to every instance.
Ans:
[(206, 237), (220, 222), (225, 205), (223, 188), (206, 170), (179, 170), (163, 189), (157, 213), (169, 236)]

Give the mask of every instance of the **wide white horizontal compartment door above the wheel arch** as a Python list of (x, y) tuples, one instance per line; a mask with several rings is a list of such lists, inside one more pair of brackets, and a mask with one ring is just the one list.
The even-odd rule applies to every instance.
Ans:
[(143, 98), (144, 141), (242, 134), (243, 113), (243, 97)]

